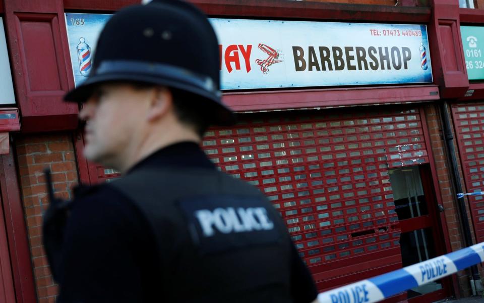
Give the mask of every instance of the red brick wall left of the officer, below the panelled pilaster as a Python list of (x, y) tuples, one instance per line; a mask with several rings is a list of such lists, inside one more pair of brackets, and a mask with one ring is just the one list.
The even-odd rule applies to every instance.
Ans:
[(15, 141), (39, 303), (54, 302), (57, 294), (42, 245), (42, 212), (48, 206), (43, 170), (50, 167), (56, 195), (70, 198), (78, 181), (72, 142), (70, 134), (21, 136)]

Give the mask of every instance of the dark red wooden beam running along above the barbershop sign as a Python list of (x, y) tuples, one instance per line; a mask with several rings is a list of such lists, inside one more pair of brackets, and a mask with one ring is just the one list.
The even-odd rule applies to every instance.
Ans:
[[(339, 3), (299, 2), (283, 0), (190, 0), (211, 16), (245, 16), (271, 18), (298, 18), (318, 20), (360, 20), (371, 22), (427, 23), (428, 7), (392, 7), (348, 5)], [(115, 11), (126, 5), (140, 3), (134, 0), (64, 0), (66, 10)]]

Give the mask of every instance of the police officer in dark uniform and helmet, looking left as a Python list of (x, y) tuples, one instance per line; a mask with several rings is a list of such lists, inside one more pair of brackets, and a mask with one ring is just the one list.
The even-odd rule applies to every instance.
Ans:
[[(278, 213), (199, 144), (233, 123), (218, 42), (191, 4), (120, 10), (102, 30), (83, 103), (84, 155), (122, 172), (51, 208), (58, 302), (311, 302), (317, 291)], [(51, 205), (54, 205), (52, 203)]]

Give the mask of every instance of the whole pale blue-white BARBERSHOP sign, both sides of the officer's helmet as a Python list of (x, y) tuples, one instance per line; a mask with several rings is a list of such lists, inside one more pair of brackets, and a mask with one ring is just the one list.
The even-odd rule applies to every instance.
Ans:
[[(109, 17), (66, 14), (76, 84), (89, 73), (90, 55)], [(223, 90), (433, 82), (425, 25), (210, 22), (219, 40)]]

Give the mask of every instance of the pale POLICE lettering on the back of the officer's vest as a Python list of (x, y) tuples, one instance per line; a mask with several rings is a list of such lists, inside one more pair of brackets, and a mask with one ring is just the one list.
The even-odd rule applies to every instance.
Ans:
[[(228, 234), (231, 232), (248, 232), (253, 230), (271, 230), (274, 223), (267, 216), (265, 208), (216, 208), (213, 211), (195, 211), (203, 235), (213, 236), (215, 230)], [(237, 216), (238, 215), (238, 216)]]

